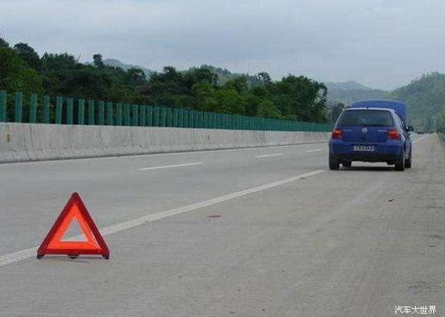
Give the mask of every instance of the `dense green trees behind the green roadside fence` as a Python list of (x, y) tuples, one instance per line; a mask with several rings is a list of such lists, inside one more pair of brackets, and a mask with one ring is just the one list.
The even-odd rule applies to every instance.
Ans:
[(101, 54), (80, 63), (68, 53), (39, 56), (29, 44), (0, 38), (0, 89), (237, 115), (327, 122), (327, 89), (305, 76), (272, 81), (266, 72), (230, 76), (209, 65), (149, 74), (106, 65)]

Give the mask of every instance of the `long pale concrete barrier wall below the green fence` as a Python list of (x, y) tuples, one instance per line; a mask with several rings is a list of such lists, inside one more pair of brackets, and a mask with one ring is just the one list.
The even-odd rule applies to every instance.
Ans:
[(0, 123), (0, 163), (323, 143), (326, 132)]

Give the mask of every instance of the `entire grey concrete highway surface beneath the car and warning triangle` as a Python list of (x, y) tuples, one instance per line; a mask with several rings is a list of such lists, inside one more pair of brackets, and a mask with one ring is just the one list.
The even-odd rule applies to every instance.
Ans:
[[(74, 191), (111, 259), (31, 257)], [(434, 135), (405, 172), (325, 144), (0, 165), (0, 316), (445, 316), (444, 204)]]

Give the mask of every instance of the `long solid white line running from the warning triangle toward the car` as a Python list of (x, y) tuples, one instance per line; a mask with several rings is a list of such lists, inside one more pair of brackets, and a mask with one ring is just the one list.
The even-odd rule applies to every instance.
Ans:
[[(174, 208), (174, 209), (170, 209), (170, 210), (166, 210), (166, 211), (161, 211), (159, 213), (151, 213), (147, 216), (143, 216), (140, 218), (136, 218), (133, 220), (128, 220), (128, 221), (124, 221), (124, 222), (120, 222), (118, 224), (115, 225), (110, 225), (107, 227), (103, 227), (102, 229), (100, 229), (99, 231), (101, 232), (101, 234), (103, 236), (107, 236), (108, 234), (115, 234), (116, 232), (120, 232), (120, 231), (124, 231), (127, 229), (131, 229), (133, 227), (138, 227), (140, 225), (144, 225), (147, 222), (152, 222), (152, 221), (156, 221), (162, 218), (166, 218), (166, 217), (170, 217), (170, 216), (175, 216), (178, 215), (179, 213), (186, 213), (188, 211), (193, 211), (195, 209), (200, 209), (203, 207), (207, 207), (207, 206), (211, 206), (213, 204), (218, 204), (220, 202), (225, 202), (227, 200), (233, 200), (235, 198), (244, 196), (244, 195), (249, 195), (252, 193), (257, 193), (261, 190), (266, 190), (269, 188), (274, 188), (277, 186), (281, 186), (284, 184), (289, 184), (293, 181), (298, 181), (300, 179), (304, 179), (307, 178), (309, 176), (314, 176), (316, 174), (320, 174), (322, 172), (325, 172), (325, 170), (314, 170), (312, 172), (307, 172), (305, 174), (301, 174), (298, 176), (294, 176), (294, 177), (289, 177), (287, 179), (282, 179), (281, 181), (273, 181), (272, 183), (268, 183), (268, 184), (264, 184), (261, 186), (257, 186), (257, 187), (252, 187), (252, 188), (248, 188), (245, 190), (241, 190), (235, 193), (231, 193), (231, 194), (227, 194), (227, 195), (223, 195), (220, 197), (216, 197), (213, 198), (211, 200), (204, 200), (203, 202), (197, 202), (195, 204), (189, 204), (187, 206), (182, 206), (179, 208)], [(73, 239), (79, 239), (81, 236), (75, 236), (75, 237), (70, 237), (68, 238), (69, 240), (73, 240)], [(35, 257), (35, 254), (37, 252), (38, 247), (30, 247), (29, 249), (26, 250), (20, 250), (17, 252), (13, 252), (10, 254), (5, 254), (0, 256), (0, 267), (1, 266), (7, 266), (8, 264), (12, 264), (12, 263), (17, 263), (18, 261), (22, 261), (25, 259), (29, 259), (32, 257)]]

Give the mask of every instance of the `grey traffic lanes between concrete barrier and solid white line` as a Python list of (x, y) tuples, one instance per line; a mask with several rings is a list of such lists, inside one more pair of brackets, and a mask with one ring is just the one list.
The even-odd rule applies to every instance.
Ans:
[[(326, 147), (311, 144), (2, 164), (0, 237), (5, 243), (0, 244), (0, 254), (40, 243), (76, 191), (104, 227), (325, 168), (324, 156), (307, 151), (326, 151)], [(282, 155), (257, 157), (277, 153)]]

